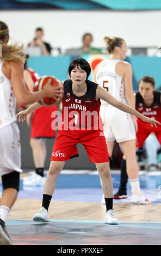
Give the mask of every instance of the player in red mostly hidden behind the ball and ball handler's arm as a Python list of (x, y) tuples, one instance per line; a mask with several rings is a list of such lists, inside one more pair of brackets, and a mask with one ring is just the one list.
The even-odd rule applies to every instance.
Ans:
[[(41, 76), (33, 69), (28, 68), (27, 61), (24, 64), (23, 76), (28, 89), (33, 92), (34, 83)], [(57, 105), (44, 106), (35, 109), (34, 112), (27, 116), (27, 124), (31, 126), (30, 147), (33, 152), (35, 171), (29, 177), (23, 178), (23, 184), (26, 186), (44, 186), (45, 184), (46, 139), (54, 138), (56, 133), (51, 127), (53, 121), (51, 115), (54, 111), (57, 111)]]

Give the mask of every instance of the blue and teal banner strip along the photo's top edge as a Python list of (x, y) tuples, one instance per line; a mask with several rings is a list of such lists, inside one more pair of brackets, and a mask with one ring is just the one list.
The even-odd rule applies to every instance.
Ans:
[(0, 9), (65, 9), (65, 10), (154, 10), (160, 0), (4, 0)]

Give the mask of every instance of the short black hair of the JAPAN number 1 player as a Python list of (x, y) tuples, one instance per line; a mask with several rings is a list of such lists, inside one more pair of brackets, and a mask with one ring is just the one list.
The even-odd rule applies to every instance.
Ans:
[(79, 66), (82, 70), (84, 70), (86, 72), (86, 74), (87, 74), (86, 79), (88, 79), (90, 72), (91, 72), (91, 67), (90, 67), (90, 64), (83, 58), (73, 59), (73, 61), (69, 65), (69, 69), (68, 69), (69, 76), (71, 74), (71, 71), (73, 69), (75, 69), (76, 67), (78, 68)]

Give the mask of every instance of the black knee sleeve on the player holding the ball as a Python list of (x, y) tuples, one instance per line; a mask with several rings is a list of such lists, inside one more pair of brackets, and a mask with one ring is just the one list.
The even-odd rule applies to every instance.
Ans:
[(15, 190), (19, 191), (19, 184), (20, 184), (20, 173), (14, 171), (14, 172), (2, 175), (2, 185), (4, 190), (7, 190), (7, 188), (15, 188)]

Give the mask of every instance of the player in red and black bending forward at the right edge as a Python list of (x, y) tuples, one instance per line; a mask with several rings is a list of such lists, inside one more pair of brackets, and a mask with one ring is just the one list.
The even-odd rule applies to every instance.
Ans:
[[(161, 93), (155, 90), (155, 81), (152, 76), (143, 76), (139, 81), (139, 92), (135, 94), (135, 108), (146, 117), (154, 120), (161, 121)], [(137, 131), (137, 149), (142, 148), (146, 138), (151, 132), (155, 133), (158, 142), (161, 145), (161, 127), (151, 127), (142, 120), (137, 118), (138, 131)], [(114, 198), (121, 199), (120, 191), (126, 190), (128, 176), (126, 168), (121, 168), (121, 176), (124, 181), (120, 180), (119, 191), (114, 195)]]

